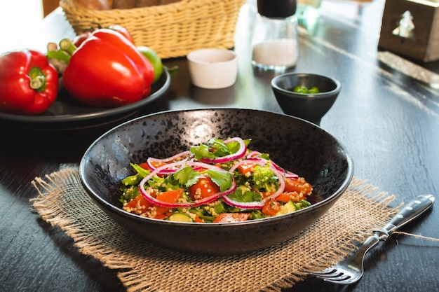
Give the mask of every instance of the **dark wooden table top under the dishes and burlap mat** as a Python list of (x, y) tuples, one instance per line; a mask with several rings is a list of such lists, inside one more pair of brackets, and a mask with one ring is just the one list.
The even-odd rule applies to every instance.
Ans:
[[(439, 63), (416, 64), (403, 59), (403, 66), (395, 67), (394, 61), (383, 58), (383, 52), (377, 50), (383, 8), (384, 0), (363, 6), (324, 0), (315, 25), (300, 29), (299, 61), (291, 71), (327, 74), (342, 82), (342, 92), (320, 126), (346, 145), (356, 177), (395, 194), (398, 202), (424, 193), (437, 196), (439, 91), (419, 76), (435, 77)], [(236, 32), (239, 68), (233, 87), (195, 88), (185, 58), (165, 60), (168, 67), (180, 67), (178, 76), (163, 97), (134, 116), (217, 106), (280, 113), (269, 86), (275, 74), (254, 71), (250, 64), (251, 21), (252, 13), (244, 9)], [(48, 41), (73, 35), (58, 9), (21, 43), (13, 48), (1, 43), (0, 50), (25, 46), (45, 51)], [(384, 56), (390, 60), (397, 57)], [(30, 181), (78, 165), (88, 145), (112, 126), (109, 123), (81, 131), (32, 130), (1, 121), (0, 291), (124, 290), (116, 272), (79, 253), (72, 240), (41, 220), (29, 203), (37, 195)], [(439, 211), (433, 207), (424, 220), (407, 225), (403, 231), (439, 238), (438, 222)], [(439, 291), (438, 242), (391, 237), (370, 253), (365, 267), (363, 279), (353, 286), (306, 279), (291, 291)]]

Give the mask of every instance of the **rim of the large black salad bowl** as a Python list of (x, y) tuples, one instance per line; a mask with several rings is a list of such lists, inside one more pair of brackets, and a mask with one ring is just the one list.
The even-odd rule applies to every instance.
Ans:
[(160, 116), (162, 114), (172, 114), (172, 113), (183, 113), (183, 112), (194, 112), (194, 111), (224, 111), (224, 110), (231, 110), (231, 111), (254, 111), (256, 113), (268, 113), (268, 114), (274, 114), (274, 115), (280, 115), (280, 116), (285, 116), (287, 118), (292, 118), (294, 120), (299, 120), (301, 122), (307, 123), (313, 127), (318, 127), (317, 125), (314, 125), (313, 123), (309, 123), (306, 120), (303, 120), (302, 118), (296, 118), (294, 116), (288, 116), (286, 114), (283, 113), (276, 113), (273, 111), (264, 111), (264, 110), (259, 110), (259, 109), (240, 109), (240, 108), (223, 108), (223, 107), (219, 107), (219, 108), (207, 108), (207, 109), (187, 109), (187, 110), (168, 110), (168, 111), (159, 111), (156, 113), (150, 113), (144, 116), (140, 116), (137, 118), (133, 118), (131, 120), (128, 120), (124, 123), (121, 123), (119, 125), (116, 125), (115, 127), (112, 127), (112, 129), (107, 130), (107, 132), (104, 132), (102, 135), (100, 135), (100, 137), (97, 137), (97, 139), (95, 139), (95, 141), (93, 141), (92, 144), (90, 144), (90, 146), (88, 146), (88, 148), (86, 149), (86, 151), (84, 152), (81, 161), (79, 163), (79, 179), (81, 181), (81, 184), (83, 186), (83, 188), (86, 190), (86, 193), (93, 199), (96, 200), (99, 204), (102, 204), (105, 207), (109, 207), (109, 209), (111, 209), (112, 211), (115, 211), (117, 214), (121, 215), (121, 216), (128, 216), (130, 218), (133, 218), (136, 221), (147, 221), (147, 222), (154, 222), (154, 223), (158, 223), (158, 224), (163, 224), (163, 225), (173, 225), (173, 226), (177, 226), (177, 225), (182, 225), (182, 226), (197, 226), (197, 228), (200, 228), (200, 226), (203, 226), (203, 228), (215, 228), (215, 226), (236, 226), (236, 225), (250, 225), (250, 224), (255, 224), (258, 222), (266, 222), (266, 221), (280, 221), (285, 217), (288, 216), (294, 216), (293, 214), (298, 214), (300, 213), (306, 213), (308, 211), (313, 211), (312, 206), (324, 206), (325, 204), (332, 204), (332, 202), (334, 200), (337, 200), (337, 198), (342, 195), (344, 193), (344, 191), (349, 188), (349, 184), (353, 178), (353, 159), (351, 157), (351, 155), (349, 154), (349, 152), (347, 151), (346, 146), (344, 146), (344, 144), (342, 144), (335, 136), (333, 136), (332, 134), (330, 134), (329, 132), (323, 130), (321, 127), (320, 130), (322, 130), (323, 132), (325, 132), (326, 134), (329, 134), (330, 137), (332, 137), (332, 139), (335, 140), (335, 142), (337, 142), (337, 144), (339, 145), (340, 150), (344, 153), (344, 155), (346, 156), (346, 164), (347, 164), (347, 174), (346, 174), (346, 178), (344, 179), (344, 181), (342, 182), (342, 185), (335, 190), (335, 192), (332, 193), (332, 195), (330, 195), (329, 197), (326, 197), (325, 200), (322, 200), (320, 202), (317, 202), (315, 204), (312, 204), (311, 207), (307, 207), (304, 209), (300, 209), (288, 214), (283, 214), (283, 215), (279, 215), (279, 216), (272, 216), (272, 217), (266, 217), (266, 218), (261, 218), (261, 219), (257, 219), (257, 220), (250, 220), (250, 221), (243, 221), (243, 222), (231, 222), (231, 223), (196, 223), (196, 222), (178, 222), (178, 221), (166, 221), (166, 220), (161, 220), (161, 219), (155, 219), (155, 218), (147, 218), (147, 217), (143, 217), (143, 216), (139, 216), (137, 214), (132, 214), (128, 211), (125, 211), (117, 206), (115, 206), (114, 204), (108, 202), (107, 200), (104, 200), (100, 195), (98, 195), (97, 193), (95, 193), (95, 191), (93, 190), (93, 188), (90, 188), (90, 186), (88, 185), (87, 181), (84, 179), (86, 176), (86, 162), (88, 160), (88, 153), (90, 153), (90, 151), (92, 151), (93, 147), (98, 144), (99, 141), (101, 141), (102, 139), (104, 139), (104, 137), (106, 137), (108, 134), (118, 130), (119, 128), (128, 125), (130, 123), (135, 123), (138, 120), (142, 120), (144, 118), (151, 118), (154, 116)]

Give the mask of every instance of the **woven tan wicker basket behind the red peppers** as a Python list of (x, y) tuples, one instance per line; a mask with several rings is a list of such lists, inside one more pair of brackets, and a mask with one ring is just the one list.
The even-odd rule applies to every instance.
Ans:
[(96, 26), (121, 25), (136, 46), (149, 46), (161, 58), (182, 57), (199, 48), (232, 48), (238, 13), (245, 0), (181, 0), (173, 4), (93, 11), (72, 0), (60, 6), (76, 34)]

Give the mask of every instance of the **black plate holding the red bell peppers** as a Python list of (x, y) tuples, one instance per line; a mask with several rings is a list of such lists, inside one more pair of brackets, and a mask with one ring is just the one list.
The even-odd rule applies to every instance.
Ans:
[(170, 85), (170, 74), (163, 71), (162, 76), (152, 85), (149, 97), (140, 102), (119, 106), (116, 108), (103, 108), (86, 106), (77, 102), (62, 90), (50, 108), (39, 116), (20, 116), (0, 113), (0, 122), (16, 127), (25, 127), (39, 130), (67, 130), (98, 127), (107, 123), (115, 123), (126, 119), (143, 106), (161, 97)]

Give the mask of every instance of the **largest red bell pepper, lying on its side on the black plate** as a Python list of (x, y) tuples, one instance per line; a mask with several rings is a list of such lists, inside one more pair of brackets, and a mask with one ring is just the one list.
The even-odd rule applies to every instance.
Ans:
[(72, 53), (62, 79), (79, 102), (116, 107), (149, 95), (154, 68), (119, 32), (97, 29)]

